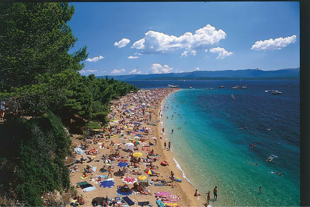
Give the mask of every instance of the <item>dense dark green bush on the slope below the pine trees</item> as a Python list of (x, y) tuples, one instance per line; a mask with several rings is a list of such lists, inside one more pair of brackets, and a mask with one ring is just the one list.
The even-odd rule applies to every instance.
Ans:
[(68, 155), (71, 139), (59, 117), (47, 111), (41, 118), (7, 120), (2, 127), (7, 130), (2, 137), (1, 157), (16, 166), (14, 173), (4, 169), (0, 180), (4, 190), (17, 180), (20, 198), (32, 206), (42, 206), (43, 192), (69, 187), (69, 170), (62, 159)]

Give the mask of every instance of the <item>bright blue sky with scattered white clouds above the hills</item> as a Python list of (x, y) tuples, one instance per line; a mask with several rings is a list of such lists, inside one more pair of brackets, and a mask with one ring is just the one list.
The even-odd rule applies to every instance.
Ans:
[(299, 2), (74, 2), (83, 75), (299, 67)]

